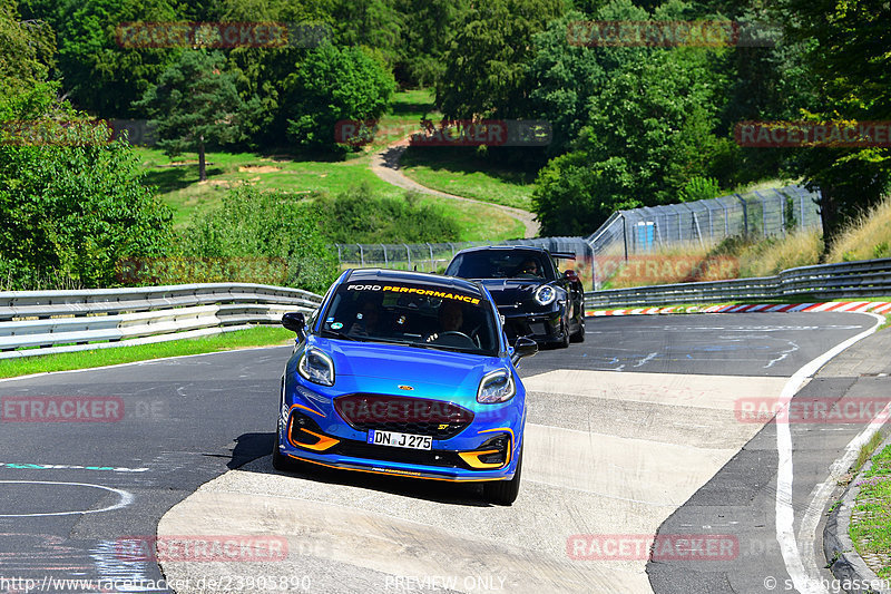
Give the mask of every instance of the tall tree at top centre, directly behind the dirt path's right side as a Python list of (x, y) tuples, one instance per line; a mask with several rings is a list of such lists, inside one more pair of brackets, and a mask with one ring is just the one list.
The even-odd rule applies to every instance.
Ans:
[(488, 0), (473, 3), (457, 26), (437, 84), (447, 118), (529, 117), (530, 40), (562, 12), (560, 0)]

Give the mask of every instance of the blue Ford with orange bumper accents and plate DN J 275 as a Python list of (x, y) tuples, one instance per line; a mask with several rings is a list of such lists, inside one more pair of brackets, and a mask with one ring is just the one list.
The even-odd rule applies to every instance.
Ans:
[(306, 462), (433, 480), (484, 481), (488, 500), (517, 498), (526, 390), (480, 283), (386, 270), (344, 272), (297, 333), (282, 377), (280, 470)]

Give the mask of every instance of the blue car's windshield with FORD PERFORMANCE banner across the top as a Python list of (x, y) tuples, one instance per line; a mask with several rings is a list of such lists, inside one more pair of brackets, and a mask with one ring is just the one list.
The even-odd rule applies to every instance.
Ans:
[(344, 283), (320, 334), (488, 357), (499, 351), (495, 314), (483, 296), (418, 283)]

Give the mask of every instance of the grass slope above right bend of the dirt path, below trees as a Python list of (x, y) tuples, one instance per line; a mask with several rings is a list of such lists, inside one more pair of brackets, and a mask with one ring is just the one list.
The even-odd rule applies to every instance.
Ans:
[(473, 147), (412, 147), (402, 171), (422, 186), (523, 211), (532, 210), (535, 173), (495, 166)]

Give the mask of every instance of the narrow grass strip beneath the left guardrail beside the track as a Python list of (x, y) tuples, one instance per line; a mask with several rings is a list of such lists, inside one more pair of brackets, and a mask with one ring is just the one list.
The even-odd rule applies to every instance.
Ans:
[(136, 344), (114, 349), (96, 349), (89, 351), (67, 352), (26, 357), (21, 359), (0, 360), (0, 378), (42, 373), (47, 371), (66, 371), (69, 369), (87, 369), (91, 367), (114, 366), (133, 361), (147, 361), (164, 357), (199, 354), (205, 352), (227, 351), (248, 347), (267, 347), (284, 344), (293, 340), (294, 333), (277, 325), (258, 325), (247, 330), (237, 330), (213, 337), (172, 340), (154, 344)]

